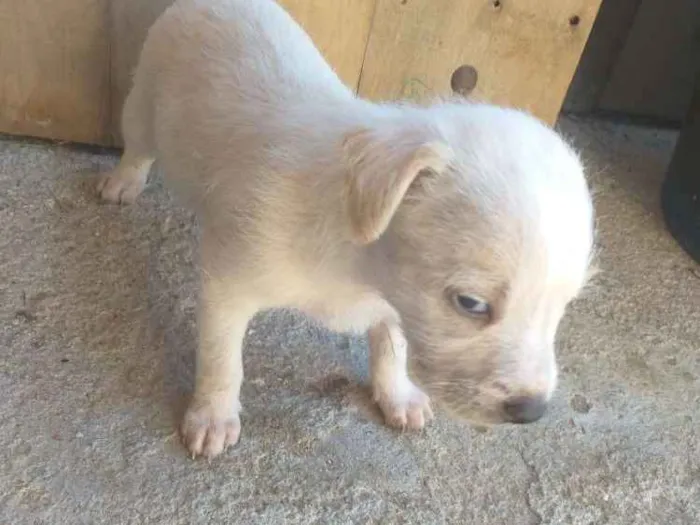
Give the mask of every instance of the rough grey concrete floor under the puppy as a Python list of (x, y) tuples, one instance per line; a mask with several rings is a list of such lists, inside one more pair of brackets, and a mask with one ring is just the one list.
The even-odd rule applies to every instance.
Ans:
[(604, 272), (560, 331), (541, 423), (378, 424), (365, 348), (251, 328), (243, 437), (192, 461), (194, 223), (157, 180), (99, 205), (109, 155), (0, 141), (0, 524), (700, 523), (700, 267), (666, 233), (675, 135), (562, 122), (588, 160)]

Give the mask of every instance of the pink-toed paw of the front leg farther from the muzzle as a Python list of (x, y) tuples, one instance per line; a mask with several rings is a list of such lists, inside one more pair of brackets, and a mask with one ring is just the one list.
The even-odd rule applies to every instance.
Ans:
[(193, 405), (185, 414), (180, 433), (193, 458), (211, 459), (238, 442), (241, 421), (238, 412), (224, 415), (212, 404)]

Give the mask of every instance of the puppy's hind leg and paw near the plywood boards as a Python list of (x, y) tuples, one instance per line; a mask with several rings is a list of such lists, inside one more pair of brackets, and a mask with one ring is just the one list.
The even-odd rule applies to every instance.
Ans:
[(141, 194), (155, 160), (152, 128), (150, 101), (137, 81), (122, 114), (124, 154), (116, 169), (103, 176), (97, 186), (103, 200), (130, 204)]

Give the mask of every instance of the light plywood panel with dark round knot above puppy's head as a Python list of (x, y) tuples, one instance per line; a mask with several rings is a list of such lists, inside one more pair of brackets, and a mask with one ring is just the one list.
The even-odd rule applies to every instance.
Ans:
[(360, 80), (372, 99), (450, 93), (453, 71), (478, 72), (473, 95), (553, 122), (600, 0), (378, 0)]

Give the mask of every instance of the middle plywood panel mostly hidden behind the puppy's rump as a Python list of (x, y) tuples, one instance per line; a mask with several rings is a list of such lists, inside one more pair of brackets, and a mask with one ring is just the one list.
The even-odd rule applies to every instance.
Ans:
[[(121, 107), (148, 29), (173, 0), (111, 0), (112, 131), (120, 142)], [(354, 89), (360, 78), (376, 0), (281, 0), (341, 79)]]

